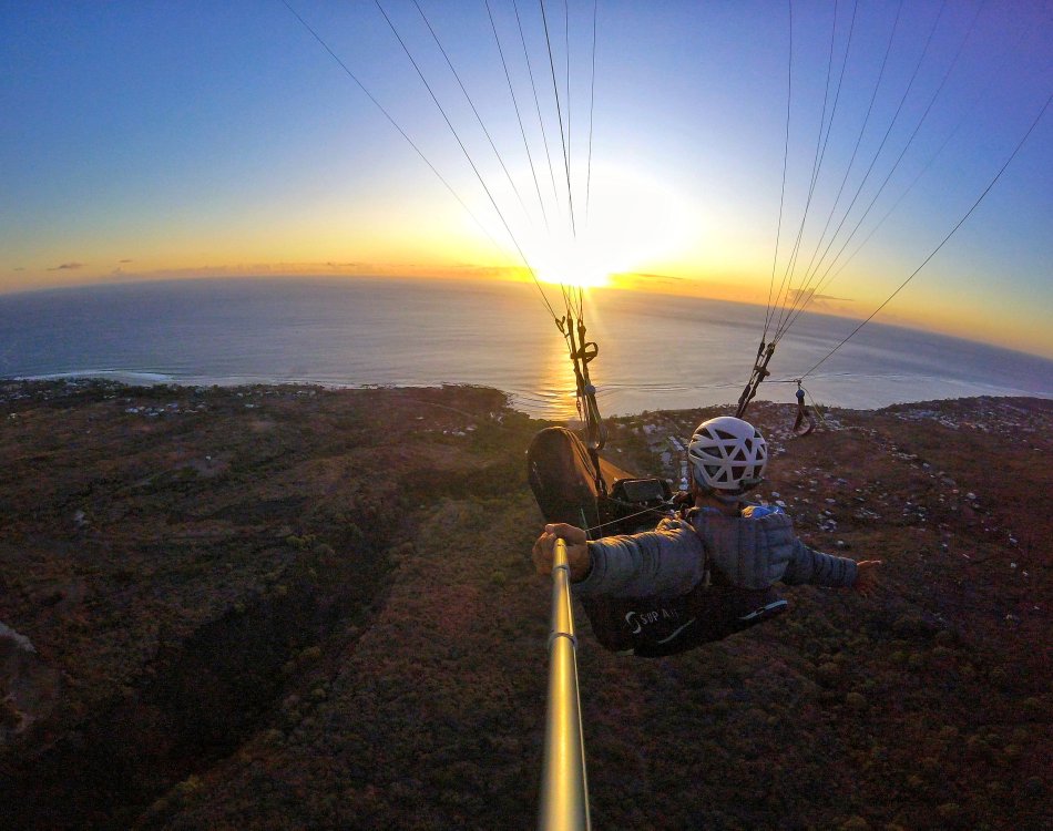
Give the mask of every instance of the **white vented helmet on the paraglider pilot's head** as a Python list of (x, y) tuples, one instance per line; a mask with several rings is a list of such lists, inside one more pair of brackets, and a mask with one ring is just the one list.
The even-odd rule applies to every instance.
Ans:
[(687, 445), (695, 481), (717, 491), (745, 493), (764, 480), (768, 444), (742, 419), (720, 416), (703, 421)]

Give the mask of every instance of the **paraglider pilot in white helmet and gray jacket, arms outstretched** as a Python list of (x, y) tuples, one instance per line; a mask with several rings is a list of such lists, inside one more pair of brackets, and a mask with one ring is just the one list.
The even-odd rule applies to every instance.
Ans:
[[(767, 444), (753, 425), (728, 416), (705, 421), (695, 430), (687, 454), (694, 507), (681, 516), (662, 520), (654, 531), (602, 540), (587, 540), (585, 531), (574, 525), (551, 523), (534, 543), (538, 573), (549, 574), (555, 540), (566, 541), (574, 595), (586, 604), (601, 640), (595, 626), (596, 599), (632, 598), (632, 608), (622, 606), (616, 613), (633, 626), (637, 638), (626, 642), (626, 650), (657, 655), (679, 649), (671, 648), (672, 636), (648, 644), (648, 653), (634, 649), (640, 646), (644, 623), (637, 609), (645, 606), (651, 609), (645, 614), (655, 620), (672, 616), (666, 630), (681, 637), (674, 623), (689, 629), (691, 622), (698, 629), (702, 624), (695, 624), (696, 618), (706, 614), (698, 602), (674, 603), (692, 594), (729, 597), (732, 605), (725, 603), (723, 614), (739, 615), (739, 622), (752, 624), (765, 609), (785, 607), (786, 602), (777, 599), (771, 588), (777, 582), (852, 588), (863, 594), (873, 589), (881, 561), (857, 563), (818, 552), (797, 537), (791, 519), (781, 509), (746, 503), (744, 495), (763, 481), (768, 456)], [(728, 612), (750, 593), (759, 598), (746, 607), (754, 611)], [(713, 640), (745, 628), (730, 623), (726, 630), (696, 639)]]

